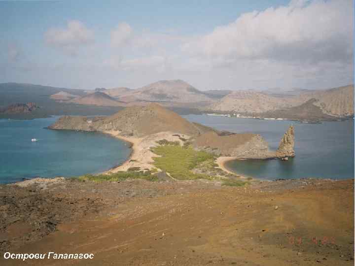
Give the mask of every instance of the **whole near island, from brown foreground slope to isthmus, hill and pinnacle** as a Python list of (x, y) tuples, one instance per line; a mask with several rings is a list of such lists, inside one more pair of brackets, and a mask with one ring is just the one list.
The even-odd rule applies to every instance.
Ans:
[(354, 179), (265, 181), (223, 169), (225, 158), (295, 156), (293, 126), (276, 151), (258, 134), (190, 123), (158, 104), (63, 116), (49, 129), (109, 133), (133, 153), (101, 174), (0, 185), (3, 253), (92, 253), (93, 264), (120, 265), (353, 264)]

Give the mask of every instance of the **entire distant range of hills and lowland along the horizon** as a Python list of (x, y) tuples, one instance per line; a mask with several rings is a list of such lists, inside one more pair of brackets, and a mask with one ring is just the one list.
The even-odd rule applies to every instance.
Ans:
[[(106, 114), (118, 111), (117, 108), (124, 106), (158, 102), (169, 108), (186, 108), (198, 112), (234, 112), (264, 117), (265, 114), (281, 114), (279, 111), (283, 111), (284, 115), (289, 115), (300, 110), (293, 107), (301, 106), (311, 99), (314, 99), (311, 105), (316, 108), (311, 105), (305, 106), (312, 112), (312, 116), (348, 117), (354, 115), (354, 85), (328, 90), (295, 88), (285, 91), (274, 88), (269, 91), (200, 91), (179, 79), (161, 80), (138, 89), (115, 87), (75, 90), (22, 83), (0, 84), (0, 106), (15, 102), (37, 102), (43, 106), (42, 111), (51, 110), (46, 114), (63, 114), (74, 109), (76, 111), (73, 113), (80, 113), (81, 110), (88, 108), (91, 108), (90, 112)], [(71, 104), (71, 109), (67, 108), (67, 103)], [(80, 105), (85, 105), (85, 107), (80, 107)], [(99, 110), (93, 106), (106, 107), (106, 109)], [(111, 107), (117, 108), (111, 110)], [(319, 110), (316, 110), (317, 108)], [(301, 113), (307, 116), (307, 113)], [(320, 115), (321, 113), (328, 116)], [(299, 117), (299, 115), (293, 115), (293, 117)]]

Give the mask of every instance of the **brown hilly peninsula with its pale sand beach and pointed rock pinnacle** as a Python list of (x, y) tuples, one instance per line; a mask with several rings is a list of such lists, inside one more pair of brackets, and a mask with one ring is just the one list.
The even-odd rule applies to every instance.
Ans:
[[(153, 168), (167, 171), (168, 169), (161, 169), (154, 164), (154, 157), (157, 154), (152, 151), (152, 147), (158, 147), (164, 141), (209, 154), (216, 159), (214, 163), (222, 169), (225, 169), (223, 162), (226, 158), (284, 159), (295, 156), (293, 126), (285, 133), (279, 149), (271, 151), (265, 139), (259, 134), (218, 131), (191, 123), (157, 103), (130, 106), (108, 117), (63, 116), (48, 129), (102, 132), (132, 143), (131, 158), (110, 172)], [(225, 160), (217, 160), (218, 157)]]

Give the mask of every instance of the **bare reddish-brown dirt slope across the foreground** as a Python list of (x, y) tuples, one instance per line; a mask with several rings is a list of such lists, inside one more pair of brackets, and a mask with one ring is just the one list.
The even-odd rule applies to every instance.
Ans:
[(0, 265), (354, 265), (354, 179), (43, 184), (0, 186)]

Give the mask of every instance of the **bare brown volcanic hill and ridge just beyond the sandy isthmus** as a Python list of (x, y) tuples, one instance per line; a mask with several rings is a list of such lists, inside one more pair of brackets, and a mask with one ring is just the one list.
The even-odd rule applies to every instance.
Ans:
[[(130, 106), (108, 117), (63, 116), (48, 128), (119, 132), (120, 135), (128, 137), (146, 137), (156, 133), (170, 132), (184, 134), (196, 150), (205, 150), (218, 156), (258, 159), (294, 156), (293, 152), (279, 156), (274, 151), (269, 151), (267, 142), (259, 134), (220, 132), (210, 127), (191, 123), (157, 103), (149, 103), (146, 106)], [(289, 139), (283, 141), (284, 144), (288, 142), (293, 148), (293, 128)]]

